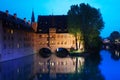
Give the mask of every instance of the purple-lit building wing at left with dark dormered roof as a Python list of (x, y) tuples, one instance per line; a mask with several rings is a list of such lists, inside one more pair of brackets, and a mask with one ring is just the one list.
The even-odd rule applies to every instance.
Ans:
[(33, 54), (33, 35), (31, 24), (25, 18), (0, 12), (0, 62)]

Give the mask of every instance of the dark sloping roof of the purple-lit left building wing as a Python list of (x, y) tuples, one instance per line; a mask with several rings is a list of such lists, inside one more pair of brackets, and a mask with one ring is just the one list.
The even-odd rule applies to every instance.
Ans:
[(14, 15), (6, 14), (5, 12), (0, 11), (0, 20), (2, 20), (3, 27), (25, 30), (25, 31), (33, 31), (31, 24), (28, 24), (24, 20), (14, 17)]

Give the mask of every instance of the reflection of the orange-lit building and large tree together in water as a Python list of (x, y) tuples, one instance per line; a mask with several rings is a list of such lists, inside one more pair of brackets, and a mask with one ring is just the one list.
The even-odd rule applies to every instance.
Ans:
[(36, 56), (32, 80), (104, 80), (98, 68), (100, 61), (100, 55), (87, 58)]

